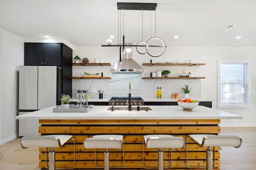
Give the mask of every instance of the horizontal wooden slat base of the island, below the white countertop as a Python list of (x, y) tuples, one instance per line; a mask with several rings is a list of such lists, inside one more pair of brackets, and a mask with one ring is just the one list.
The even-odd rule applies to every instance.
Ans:
[[(39, 120), (39, 133), (72, 134), (75, 135), (75, 169), (93, 169), (95, 165), (94, 149), (84, 149), (85, 138), (96, 134), (124, 135), (124, 166), (127, 169), (144, 169), (144, 166), (157, 167), (158, 148), (146, 149), (142, 146), (145, 134), (171, 134), (182, 136), (186, 140), (187, 134), (218, 134), (220, 133), (220, 119), (187, 119), (187, 120)], [(144, 149), (144, 155), (142, 150)], [(72, 168), (74, 164), (74, 142), (70, 141), (66, 148), (55, 148), (56, 168)], [(110, 166), (120, 166), (123, 160), (123, 151), (110, 150)], [(170, 149), (164, 150), (164, 166), (170, 164)], [(215, 169), (220, 169), (220, 152), (216, 147)], [(46, 148), (39, 148), (39, 168), (46, 168)], [(97, 162), (104, 165), (104, 149), (97, 149)], [(213, 156), (214, 158), (214, 156)], [(189, 141), (189, 166), (206, 166), (206, 147), (200, 148)], [(183, 170), (186, 168), (186, 147), (174, 148), (172, 151), (171, 169)]]

